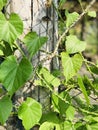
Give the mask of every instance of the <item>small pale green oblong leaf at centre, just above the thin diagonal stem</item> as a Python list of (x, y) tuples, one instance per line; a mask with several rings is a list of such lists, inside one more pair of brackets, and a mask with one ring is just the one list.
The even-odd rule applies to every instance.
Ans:
[(45, 81), (54, 87), (60, 85), (60, 79), (52, 75), (46, 68), (41, 68), (40, 74), (43, 75)]

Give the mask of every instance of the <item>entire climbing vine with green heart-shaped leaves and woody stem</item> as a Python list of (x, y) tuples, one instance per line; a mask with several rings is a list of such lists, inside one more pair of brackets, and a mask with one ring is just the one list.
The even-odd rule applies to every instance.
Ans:
[[(63, 3), (60, 0), (60, 5)], [(88, 14), (96, 17), (95, 11), (89, 11), (95, 0), (92, 0), (82, 14), (77, 12), (66, 14), (66, 29), (57, 41), (54, 51), (33, 66), (31, 59), (47, 42), (47, 37), (39, 37), (36, 32), (29, 32), (20, 39), (23, 33), (23, 21), (15, 14), (9, 17), (2, 13), (7, 0), (0, 1), (0, 123), (8, 120), (13, 113), (22, 120), (26, 130), (35, 125), (39, 130), (97, 130), (98, 105), (92, 104), (90, 97), (93, 93), (98, 97), (98, 64), (87, 61), (82, 52), (86, 49), (86, 42), (76, 35), (66, 35), (79, 20)], [(26, 47), (27, 54), (20, 47), (19, 41)], [(58, 54), (59, 45), (66, 42), (65, 48)], [(14, 55), (18, 49), (21, 57)], [(58, 57), (61, 63), (60, 70), (50, 72), (43, 67), (42, 62)], [(80, 73), (85, 66), (90, 77)], [(36, 77), (36, 78), (35, 78)], [(43, 113), (42, 105), (32, 97), (27, 97), (17, 111), (13, 112), (12, 96), (31, 81), (32, 85), (45, 87), (50, 91), (51, 109)], [(60, 89), (60, 90), (59, 90)], [(58, 90), (58, 91), (56, 91)], [(82, 94), (77, 97), (71, 92)], [(97, 98), (96, 98), (97, 99)], [(77, 114), (79, 118), (77, 118)]]

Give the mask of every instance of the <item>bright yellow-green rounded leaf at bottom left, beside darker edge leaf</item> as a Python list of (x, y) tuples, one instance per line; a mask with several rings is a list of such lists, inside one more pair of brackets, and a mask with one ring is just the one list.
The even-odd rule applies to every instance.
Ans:
[(23, 126), (29, 130), (36, 125), (42, 116), (42, 106), (36, 100), (27, 98), (18, 110), (18, 117), (22, 120)]

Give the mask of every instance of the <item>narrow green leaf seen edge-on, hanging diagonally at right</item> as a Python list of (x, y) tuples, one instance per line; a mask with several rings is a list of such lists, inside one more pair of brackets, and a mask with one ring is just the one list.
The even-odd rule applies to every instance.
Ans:
[(80, 76), (78, 76), (78, 85), (81, 88), (81, 91), (82, 91), (82, 93), (83, 93), (83, 95), (85, 97), (85, 100), (86, 100), (87, 104), (89, 105), (90, 104), (89, 97), (88, 97), (86, 88), (85, 88), (85, 86), (83, 84), (82, 78)]

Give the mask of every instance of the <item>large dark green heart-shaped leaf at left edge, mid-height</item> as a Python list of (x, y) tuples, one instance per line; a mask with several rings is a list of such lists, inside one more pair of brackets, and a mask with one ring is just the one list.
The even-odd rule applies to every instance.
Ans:
[(0, 66), (0, 81), (10, 94), (23, 86), (32, 74), (32, 65), (23, 58), (20, 63), (15, 56), (9, 56)]

